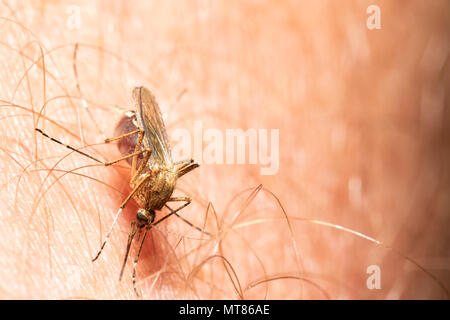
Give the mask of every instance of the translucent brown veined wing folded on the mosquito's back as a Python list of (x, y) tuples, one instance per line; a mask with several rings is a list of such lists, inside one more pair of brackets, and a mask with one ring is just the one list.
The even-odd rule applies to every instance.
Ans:
[(153, 163), (172, 163), (169, 139), (155, 97), (150, 90), (137, 87), (133, 90), (133, 99), (138, 124), (145, 130), (144, 144), (152, 150), (150, 160)]

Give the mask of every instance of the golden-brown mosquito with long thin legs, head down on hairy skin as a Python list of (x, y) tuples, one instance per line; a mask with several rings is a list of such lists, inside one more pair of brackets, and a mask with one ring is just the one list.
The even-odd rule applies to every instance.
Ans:
[[(197, 168), (199, 164), (195, 163), (193, 159), (177, 162), (172, 160), (169, 141), (164, 122), (161, 117), (161, 112), (156, 99), (150, 90), (145, 87), (134, 88), (133, 101), (135, 104), (135, 110), (127, 111), (123, 115), (115, 128), (114, 138), (105, 139), (105, 143), (118, 141), (118, 148), (123, 156), (114, 161), (101, 161), (85, 152), (50, 137), (39, 128), (36, 128), (36, 131), (50, 140), (99, 163), (102, 163), (105, 166), (115, 164), (122, 160), (127, 160), (127, 162), (131, 164), (130, 186), (132, 191), (120, 205), (119, 210), (114, 217), (113, 223), (97, 255), (92, 259), (92, 262), (96, 261), (102, 253), (123, 209), (131, 199), (134, 199), (139, 204), (140, 209), (137, 211), (136, 219), (131, 222), (125, 257), (120, 270), (119, 281), (122, 279), (133, 239), (137, 234), (136, 241), (138, 242), (143, 232), (139, 249), (134, 259), (132, 276), (134, 291), (136, 292), (136, 295), (139, 296), (139, 292), (136, 288), (136, 265), (139, 261), (139, 256), (141, 254), (147, 233), (153, 226), (166, 220), (171, 215), (176, 215), (190, 226), (200, 230), (203, 233), (209, 233), (194, 226), (177, 213), (191, 203), (191, 198), (172, 197), (177, 180)], [(184, 203), (177, 209), (172, 210), (167, 205), (168, 202)], [(155, 222), (155, 211), (162, 210), (163, 207), (169, 209), (170, 213)]]

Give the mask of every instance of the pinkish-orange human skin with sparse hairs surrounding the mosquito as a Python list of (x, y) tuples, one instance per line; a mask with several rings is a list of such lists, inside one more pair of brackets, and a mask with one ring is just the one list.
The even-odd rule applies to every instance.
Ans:
[[(381, 29), (367, 27), (372, 4)], [(136, 298), (136, 248), (118, 282), (136, 204), (91, 262), (129, 167), (80, 168), (94, 163), (34, 127), (116, 159), (89, 112), (111, 137), (144, 85), (169, 137), (198, 120), (279, 129), (276, 174), (203, 164), (178, 182), (176, 195), (194, 199), (183, 216), (214, 237), (176, 218), (153, 229), (138, 264), (144, 298), (447, 299), (449, 6), (3, 1), (0, 297)]]

